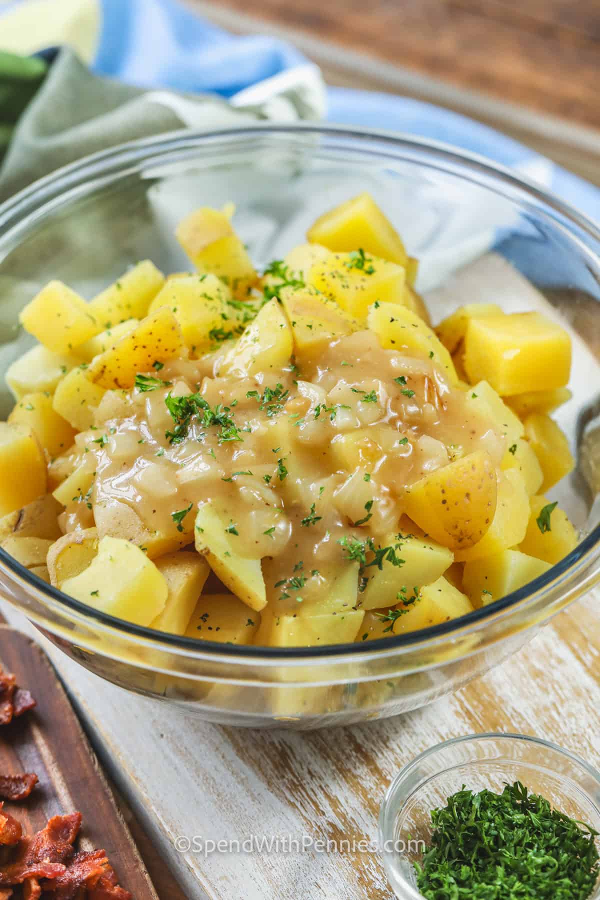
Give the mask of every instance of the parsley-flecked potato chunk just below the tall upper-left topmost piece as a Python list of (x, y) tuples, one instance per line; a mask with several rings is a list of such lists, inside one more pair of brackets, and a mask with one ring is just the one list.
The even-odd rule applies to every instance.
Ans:
[(216, 275), (169, 278), (150, 304), (150, 312), (168, 307), (179, 322), (184, 343), (194, 354), (209, 350), (219, 340), (234, 336), (228, 321), (228, 287)]

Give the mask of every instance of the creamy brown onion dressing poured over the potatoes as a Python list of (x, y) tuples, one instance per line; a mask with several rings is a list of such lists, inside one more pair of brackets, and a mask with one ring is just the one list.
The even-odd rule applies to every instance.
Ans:
[[(119, 500), (148, 529), (183, 544), (193, 543), (198, 503), (227, 509), (237, 552), (265, 560), (267, 597), (280, 611), (324, 596), (347, 571), (340, 538), (380, 544), (397, 532), (407, 485), (476, 449), (497, 465), (502, 459), (505, 438), (472, 409), (468, 392), (430, 360), (381, 349), (372, 332), (334, 341), (301, 371), (219, 377), (222, 356), (167, 363), (157, 376), (168, 387), (107, 392), (95, 428), (76, 444), (95, 472), (94, 508)], [(247, 396), (277, 385), (287, 392), (281, 407), (261, 409)], [(167, 393), (198, 391), (211, 407), (231, 409), (242, 440), (221, 442), (218, 427), (193, 419), (181, 443), (169, 441)], [(190, 504), (182, 532), (173, 514)], [(67, 530), (93, 524), (85, 503), (67, 507)], [(275, 587), (294, 574), (299, 588)]]

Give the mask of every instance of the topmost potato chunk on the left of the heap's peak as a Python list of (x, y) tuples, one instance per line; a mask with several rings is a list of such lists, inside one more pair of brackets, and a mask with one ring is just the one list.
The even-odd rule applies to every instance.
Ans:
[(181, 221), (175, 234), (199, 272), (218, 275), (240, 296), (255, 284), (255, 267), (227, 211), (203, 206)]

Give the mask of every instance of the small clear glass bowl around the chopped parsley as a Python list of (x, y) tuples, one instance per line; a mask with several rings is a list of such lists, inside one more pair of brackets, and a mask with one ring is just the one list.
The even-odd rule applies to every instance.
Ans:
[[(438, 743), (399, 772), (381, 805), (383, 864), (400, 900), (423, 900), (413, 862), (423, 842), (430, 843), (432, 809), (463, 786), (499, 793), (514, 781), (600, 832), (600, 772), (574, 753), (526, 734), (469, 734)], [(589, 900), (600, 900), (600, 878)]]

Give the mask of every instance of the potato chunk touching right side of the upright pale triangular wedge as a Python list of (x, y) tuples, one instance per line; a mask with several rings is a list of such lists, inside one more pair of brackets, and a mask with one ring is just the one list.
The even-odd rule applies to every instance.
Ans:
[(284, 288), (281, 299), (291, 325), (294, 356), (299, 360), (318, 356), (330, 341), (360, 328), (335, 301), (310, 288)]

